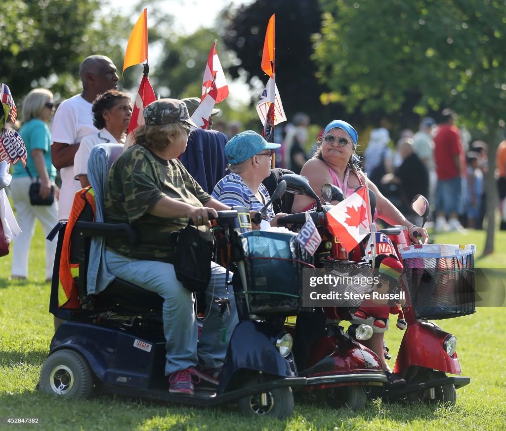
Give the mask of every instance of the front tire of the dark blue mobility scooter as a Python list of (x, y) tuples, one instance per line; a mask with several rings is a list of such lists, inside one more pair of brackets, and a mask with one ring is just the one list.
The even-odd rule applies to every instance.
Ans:
[[(258, 383), (258, 379), (250, 379), (244, 387)], [(293, 393), (290, 386), (270, 389), (266, 394), (267, 406), (261, 405), (261, 394), (240, 398), (237, 405), (246, 416), (272, 416), (284, 419), (293, 413)]]

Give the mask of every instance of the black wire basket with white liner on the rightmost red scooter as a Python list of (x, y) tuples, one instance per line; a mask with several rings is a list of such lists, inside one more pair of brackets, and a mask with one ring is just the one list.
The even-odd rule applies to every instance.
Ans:
[(476, 246), (425, 244), (401, 250), (417, 319), (450, 319), (476, 312)]

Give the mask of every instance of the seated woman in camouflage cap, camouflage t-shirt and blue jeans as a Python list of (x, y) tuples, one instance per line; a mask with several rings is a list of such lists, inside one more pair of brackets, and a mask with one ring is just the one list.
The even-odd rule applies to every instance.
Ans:
[(136, 144), (112, 165), (105, 197), (107, 221), (135, 227), (141, 244), (133, 248), (108, 240), (106, 260), (116, 277), (163, 297), (165, 374), (170, 376), (170, 391), (193, 394), (193, 382), (218, 383), (214, 376), (223, 365), (237, 311), (231, 296), (230, 314), (225, 313), (225, 320), (219, 317), (215, 299), (226, 297), (225, 269), (213, 263), (212, 287), (206, 291), (212, 309), (197, 356), (194, 298), (176, 278), (170, 233), (184, 228), (188, 219), (196, 226), (209, 225), (208, 214), (217, 217), (217, 210), (230, 208), (204, 192), (178, 160), (194, 126), (186, 105), (181, 100), (160, 99), (146, 106), (144, 119), (145, 125), (135, 131)]

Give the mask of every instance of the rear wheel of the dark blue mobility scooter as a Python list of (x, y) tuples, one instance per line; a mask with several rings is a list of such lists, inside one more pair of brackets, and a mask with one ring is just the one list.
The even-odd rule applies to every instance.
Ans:
[(39, 387), (48, 395), (69, 400), (89, 398), (93, 390), (93, 373), (85, 357), (64, 348), (46, 359), (40, 371)]

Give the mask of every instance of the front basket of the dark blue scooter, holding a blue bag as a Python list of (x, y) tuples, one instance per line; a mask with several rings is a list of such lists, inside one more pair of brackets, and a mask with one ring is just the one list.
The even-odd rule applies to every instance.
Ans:
[(312, 256), (295, 233), (254, 230), (241, 234), (246, 286), (242, 294), (251, 315), (297, 315), (302, 307), (302, 269)]

